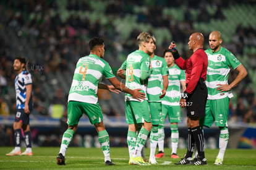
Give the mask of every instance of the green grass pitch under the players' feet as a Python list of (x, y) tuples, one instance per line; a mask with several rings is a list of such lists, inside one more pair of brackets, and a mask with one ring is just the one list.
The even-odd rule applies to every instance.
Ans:
[[(171, 149), (165, 148), (166, 156), (156, 159), (158, 164), (150, 166), (129, 165), (128, 148), (110, 148), (111, 159), (116, 166), (105, 166), (101, 148), (70, 147), (66, 153), (66, 166), (56, 164), (59, 147), (33, 148), (33, 156), (6, 156), (13, 147), (0, 147), (0, 169), (256, 169), (256, 150), (227, 149), (222, 166), (213, 165), (218, 150), (205, 150), (208, 165), (174, 165), (179, 159), (172, 159), (168, 153)], [(24, 148), (22, 148), (22, 151)], [(186, 153), (178, 149), (178, 155)], [(145, 149), (147, 158), (150, 149)]]

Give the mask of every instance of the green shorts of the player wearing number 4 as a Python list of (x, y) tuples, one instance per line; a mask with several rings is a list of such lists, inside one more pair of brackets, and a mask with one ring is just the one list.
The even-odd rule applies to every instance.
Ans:
[(88, 116), (91, 124), (98, 124), (103, 121), (102, 111), (98, 103), (91, 104), (79, 101), (69, 101), (67, 104), (67, 124), (78, 124), (83, 113)]

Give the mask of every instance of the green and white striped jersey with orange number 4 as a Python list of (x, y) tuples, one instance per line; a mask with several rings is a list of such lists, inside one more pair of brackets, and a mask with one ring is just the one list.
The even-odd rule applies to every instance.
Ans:
[(81, 57), (75, 68), (68, 101), (96, 104), (98, 83), (101, 82), (103, 75), (106, 79), (115, 77), (108, 62), (95, 54)]

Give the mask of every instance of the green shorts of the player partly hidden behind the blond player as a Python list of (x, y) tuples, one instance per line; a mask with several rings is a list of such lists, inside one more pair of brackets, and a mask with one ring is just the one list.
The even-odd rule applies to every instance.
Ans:
[(152, 119), (152, 125), (159, 125), (161, 123), (161, 112), (162, 103), (161, 102), (148, 102), (150, 106), (150, 114)]

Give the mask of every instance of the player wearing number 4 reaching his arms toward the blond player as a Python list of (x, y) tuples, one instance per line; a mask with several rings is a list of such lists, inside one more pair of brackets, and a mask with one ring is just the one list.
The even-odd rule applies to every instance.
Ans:
[[(77, 130), (79, 119), (83, 113), (88, 116), (91, 124), (95, 125), (98, 132), (98, 140), (101, 144), (105, 156), (105, 165), (114, 165), (109, 155), (109, 135), (103, 124), (103, 114), (98, 104), (96, 95), (98, 88), (116, 92), (116, 88), (129, 93), (136, 100), (144, 100), (145, 94), (140, 89), (131, 90), (114, 76), (108, 62), (103, 60), (105, 53), (104, 40), (98, 37), (89, 41), (90, 55), (81, 57), (75, 68), (73, 81), (69, 91), (67, 104), (67, 124), (68, 129), (62, 136), (61, 148), (56, 158), (57, 164), (65, 165), (66, 150)], [(100, 80), (106, 77), (112, 85), (99, 84)]]

